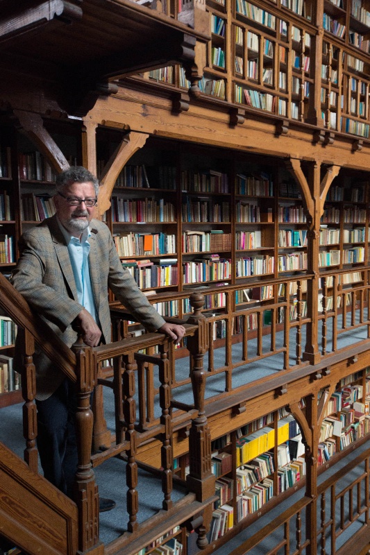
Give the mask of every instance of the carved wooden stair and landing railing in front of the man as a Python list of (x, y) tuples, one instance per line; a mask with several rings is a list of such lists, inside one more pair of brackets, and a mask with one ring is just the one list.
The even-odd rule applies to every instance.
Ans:
[[(75, 498), (78, 509), (78, 522), (72, 525), (74, 531), (78, 528), (78, 552), (89, 551), (89, 554), (101, 554), (103, 545), (99, 540), (99, 494), (96, 486), (93, 466), (99, 466), (112, 456), (119, 456), (126, 463), (127, 484), (127, 508), (128, 508), (128, 536), (121, 536), (114, 543), (113, 552), (123, 546), (138, 540), (143, 531), (148, 531), (148, 524), (143, 527), (137, 522), (137, 511), (139, 499), (137, 496), (137, 450), (144, 441), (157, 439), (161, 442), (161, 466), (160, 480), (162, 481), (163, 500), (158, 511), (163, 509), (167, 516), (155, 519), (151, 524), (151, 532), (158, 528), (161, 531), (161, 523), (169, 521), (173, 527), (186, 521), (194, 520), (197, 515), (194, 528), (198, 531), (198, 545), (206, 545), (205, 532), (210, 521), (208, 511), (208, 522), (203, 522), (203, 511), (210, 506), (215, 499), (215, 477), (210, 470), (210, 434), (208, 422), (204, 410), (204, 380), (203, 380), (203, 356), (204, 341), (202, 336), (202, 323), (196, 325), (186, 324), (186, 336), (189, 341), (190, 359), (192, 360), (191, 373), (194, 397), (191, 404), (192, 410), (186, 416), (190, 426), (190, 475), (187, 477), (188, 495), (185, 495), (185, 503), (180, 500), (177, 504), (171, 499), (172, 491), (172, 429), (173, 415), (171, 406), (171, 359), (174, 348), (170, 348), (169, 339), (164, 334), (146, 334), (146, 336), (134, 339), (123, 339), (109, 345), (90, 348), (81, 339), (73, 345), (72, 350), (58, 339), (53, 331), (37, 316), (33, 315), (22, 296), (8, 283), (6, 278), (0, 275), (0, 306), (17, 324), (18, 333), (23, 334), (22, 342), (24, 348), (24, 367), (22, 370), (22, 395), (24, 397), (24, 437), (26, 439), (25, 459), (31, 472), (38, 473), (38, 454), (36, 447), (37, 418), (35, 407), (35, 366), (33, 364), (33, 353), (35, 343), (53, 361), (53, 364), (61, 372), (76, 382), (76, 438), (78, 445), (78, 468), (76, 472)], [(18, 339), (19, 340), (19, 339)], [(199, 344), (203, 345), (199, 349)], [(153, 350), (158, 348), (159, 355), (146, 355), (141, 350)], [(113, 359), (113, 384), (116, 396), (116, 441), (100, 453), (91, 455), (92, 432), (94, 416), (90, 408), (92, 391), (98, 381), (98, 370), (101, 362)], [(140, 389), (139, 407), (140, 418), (137, 424), (137, 411), (135, 400), (135, 375), (138, 374), (142, 382), (144, 368), (151, 366), (158, 368), (158, 379), (160, 382), (158, 396), (160, 407), (160, 418), (151, 427), (146, 426), (147, 413), (142, 410), (146, 398), (153, 395), (153, 389), (143, 397)], [(153, 416), (153, 415), (151, 415)], [(153, 420), (153, 418), (149, 418)], [(208, 456), (205, 456), (208, 454)], [(26, 484), (24, 484), (26, 488)], [(50, 486), (48, 486), (50, 487)], [(63, 496), (62, 496), (63, 497)], [(29, 500), (28, 500), (29, 501)], [(22, 504), (21, 504), (22, 505)], [(22, 509), (22, 507), (21, 507)], [(69, 511), (71, 512), (71, 511)], [(75, 514), (72, 511), (72, 514)], [(20, 519), (22, 520), (22, 519)], [(30, 523), (32, 527), (32, 522)], [(190, 524), (189, 524), (190, 525)], [(33, 530), (37, 534), (37, 531)], [(25, 538), (8, 537), (17, 545), (23, 547), (33, 555), (33, 548), (28, 545)], [(37, 543), (35, 543), (36, 545)], [(67, 553), (75, 554), (76, 545), (72, 545), (69, 538), (66, 539)], [(38, 544), (37, 544), (38, 545)], [(35, 553), (37, 549), (35, 548)]]

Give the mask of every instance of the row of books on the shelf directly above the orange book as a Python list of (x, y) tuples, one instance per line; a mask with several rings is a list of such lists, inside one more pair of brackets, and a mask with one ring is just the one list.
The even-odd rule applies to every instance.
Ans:
[(163, 198), (126, 200), (112, 196), (113, 222), (174, 222), (175, 208)]

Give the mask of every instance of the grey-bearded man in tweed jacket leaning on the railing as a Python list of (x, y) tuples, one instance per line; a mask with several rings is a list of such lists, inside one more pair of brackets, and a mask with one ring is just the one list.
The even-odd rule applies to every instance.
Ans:
[[(146, 330), (183, 338), (181, 325), (166, 323), (121, 266), (105, 223), (92, 219), (98, 180), (83, 167), (71, 167), (56, 179), (56, 214), (25, 232), (12, 284), (31, 307), (71, 347), (78, 324), (91, 347), (110, 343), (108, 287)], [(17, 350), (16, 350), (17, 352)], [(37, 446), (44, 476), (72, 497), (77, 465), (74, 385), (42, 352), (36, 367)], [(101, 499), (101, 511), (115, 506)]]

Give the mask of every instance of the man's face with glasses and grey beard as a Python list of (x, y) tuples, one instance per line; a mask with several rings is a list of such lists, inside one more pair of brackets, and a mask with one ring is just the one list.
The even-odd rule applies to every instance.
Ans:
[[(72, 183), (62, 191), (62, 194), (67, 198), (96, 198), (95, 189), (92, 182), (85, 183)], [(85, 203), (80, 203), (77, 206), (69, 205), (67, 198), (63, 198), (60, 194), (54, 196), (54, 203), (56, 205), (56, 213), (64, 227), (74, 235), (74, 237), (81, 237), (83, 230), (89, 225), (92, 216), (94, 215), (95, 207), (88, 207)]]

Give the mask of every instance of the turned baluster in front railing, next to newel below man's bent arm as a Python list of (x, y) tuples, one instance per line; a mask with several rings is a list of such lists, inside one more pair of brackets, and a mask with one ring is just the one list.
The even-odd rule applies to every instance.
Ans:
[(135, 431), (135, 420), (136, 420), (136, 402), (134, 399), (135, 395), (135, 370), (137, 368), (135, 362), (135, 355), (133, 352), (122, 357), (124, 361), (124, 373), (122, 375), (122, 385), (124, 390), (124, 427), (126, 428), (126, 441), (128, 441), (130, 447), (127, 450), (127, 466), (126, 466), (126, 485), (128, 487), (127, 492), (127, 512), (128, 512), (128, 524), (127, 529), (129, 532), (133, 532), (137, 529), (137, 511), (138, 506), (138, 495), (137, 495), (137, 463), (135, 461), (135, 456), (137, 452), (137, 436)]

